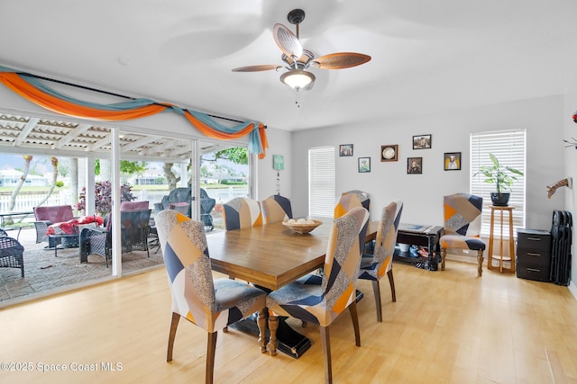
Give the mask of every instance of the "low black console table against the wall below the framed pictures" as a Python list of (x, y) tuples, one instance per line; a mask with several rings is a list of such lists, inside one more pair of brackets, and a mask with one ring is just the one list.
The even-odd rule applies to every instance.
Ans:
[(395, 247), (394, 258), (403, 262), (413, 263), (427, 271), (436, 271), (438, 269), (437, 255), (440, 255), (441, 251), (439, 240), (443, 233), (443, 227), (400, 223), (397, 232), (397, 243), (408, 244), (409, 246), (424, 246), (427, 248), (429, 255), (426, 257), (414, 257), (409, 251), (402, 252), (397, 246)]

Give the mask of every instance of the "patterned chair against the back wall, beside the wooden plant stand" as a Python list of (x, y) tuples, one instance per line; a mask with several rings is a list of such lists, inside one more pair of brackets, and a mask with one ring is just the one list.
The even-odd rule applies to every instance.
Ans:
[(443, 198), (444, 236), (441, 246), (441, 270), (447, 248), (461, 248), (477, 251), (477, 276), (483, 269), (485, 242), (481, 240), (481, 213), (483, 198), (469, 193), (454, 193)]

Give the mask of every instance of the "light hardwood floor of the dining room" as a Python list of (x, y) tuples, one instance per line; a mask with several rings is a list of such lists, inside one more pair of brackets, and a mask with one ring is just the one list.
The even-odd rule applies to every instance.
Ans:
[[(577, 301), (566, 287), (486, 269), (477, 278), (473, 264), (451, 261), (444, 272), (398, 262), (393, 270), (397, 302), (385, 279), (380, 324), (371, 284), (359, 281), (361, 347), (348, 314), (331, 326), (335, 383), (577, 382)], [(0, 381), (204, 382), (206, 333), (197, 326), (180, 322), (174, 360), (166, 362), (166, 279), (159, 269), (0, 310), (0, 362), (33, 366), (3, 365)], [(219, 333), (215, 382), (322, 383), (318, 327), (291, 324), (312, 340), (298, 360), (261, 354), (255, 338), (233, 329)], [(108, 362), (122, 371), (104, 371)], [(40, 372), (40, 364), (67, 371)], [(98, 371), (71, 371), (74, 364)]]

